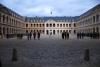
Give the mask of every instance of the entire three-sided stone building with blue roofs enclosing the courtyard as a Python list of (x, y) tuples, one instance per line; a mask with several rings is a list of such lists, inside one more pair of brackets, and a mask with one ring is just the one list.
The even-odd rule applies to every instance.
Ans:
[(63, 31), (70, 34), (100, 34), (100, 4), (75, 17), (25, 17), (0, 4), (0, 37), (34, 31), (44, 35), (61, 35)]

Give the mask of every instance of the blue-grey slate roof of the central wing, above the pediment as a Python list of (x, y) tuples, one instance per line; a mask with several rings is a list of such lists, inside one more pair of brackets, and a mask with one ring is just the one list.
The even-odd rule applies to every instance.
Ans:
[(55, 22), (76, 22), (78, 19), (78, 16), (75, 16), (75, 17), (67, 17), (67, 16), (55, 16), (55, 17), (49, 17), (49, 16), (46, 16), (46, 17), (26, 17), (25, 18), (25, 21), (26, 22), (38, 22), (38, 21), (41, 21), (41, 22), (46, 22), (48, 20), (53, 20)]

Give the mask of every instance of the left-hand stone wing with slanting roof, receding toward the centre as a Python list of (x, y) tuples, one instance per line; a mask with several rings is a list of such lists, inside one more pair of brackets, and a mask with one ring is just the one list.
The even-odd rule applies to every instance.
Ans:
[(24, 33), (24, 28), (24, 18), (0, 4), (0, 37), (5, 37), (6, 34)]

